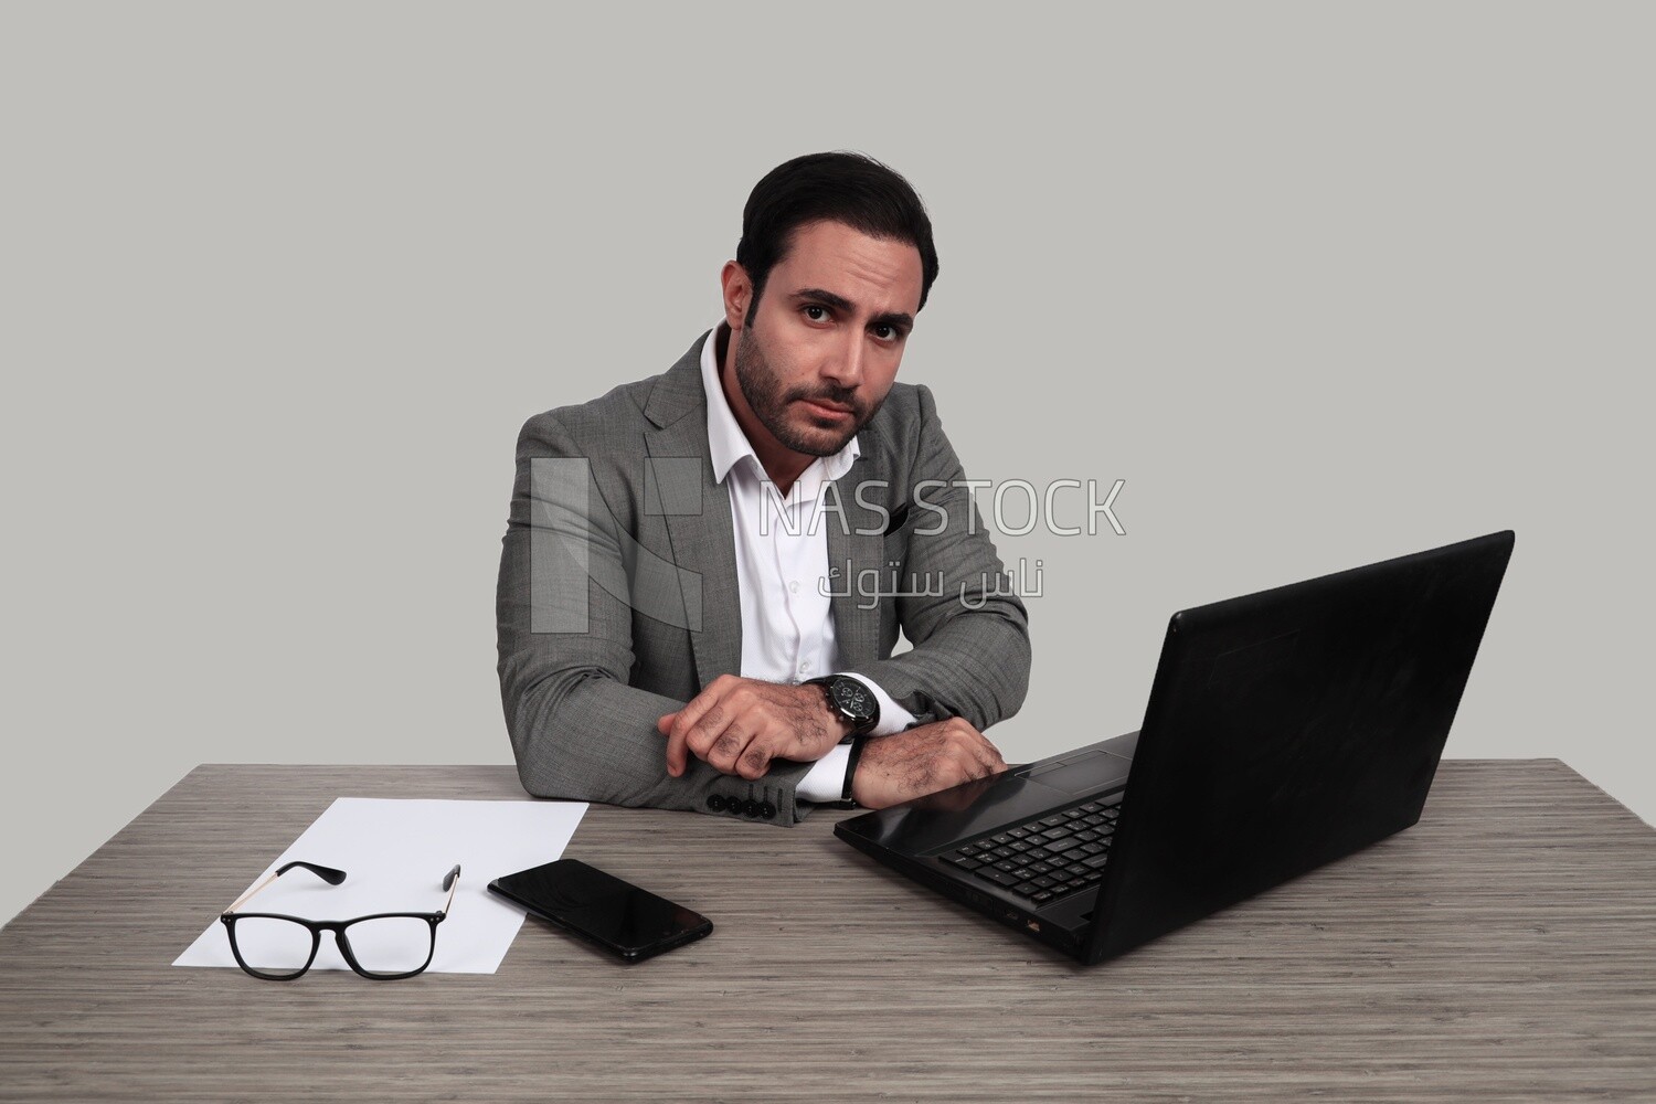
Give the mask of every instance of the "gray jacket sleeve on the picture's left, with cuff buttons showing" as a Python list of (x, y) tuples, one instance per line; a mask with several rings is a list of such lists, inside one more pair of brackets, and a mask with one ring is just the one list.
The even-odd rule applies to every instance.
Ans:
[(682, 778), (667, 775), (656, 722), (684, 702), (629, 685), (639, 556), (591, 478), (601, 462), (580, 452), (556, 412), (530, 419), (518, 435), (495, 621), (523, 788), (793, 824), (805, 813), (793, 791), (808, 763), (778, 761), (749, 781), (691, 756)]

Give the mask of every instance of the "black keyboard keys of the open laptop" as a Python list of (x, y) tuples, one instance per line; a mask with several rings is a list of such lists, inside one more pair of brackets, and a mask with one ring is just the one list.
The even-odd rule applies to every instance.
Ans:
[(1038, 909), (1103, 881), (1119, 813), (1119, 793), (1081, 801), (1027, 824), (1000, 828), (937, 859)]

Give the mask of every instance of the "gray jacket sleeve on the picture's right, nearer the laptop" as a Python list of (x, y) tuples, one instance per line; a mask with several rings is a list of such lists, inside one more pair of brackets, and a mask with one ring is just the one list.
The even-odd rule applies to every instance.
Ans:
[[(931, 391), (916, 387), (921, 425), (907, 511), (888, 540), (901, 546), (907, 594), (898, 621), (912, 650), (858, 664), (919, 723), (964, 717), (979, 732), (1018, 712), (1028, 692), (1028, 614), (1005, 584), (1004, 564), (972, 513), (972, 492), (942, 432)], [(941, 579), (941, 594), (926, 579)], [(936, 586), (929, 589), (937, 589)]]

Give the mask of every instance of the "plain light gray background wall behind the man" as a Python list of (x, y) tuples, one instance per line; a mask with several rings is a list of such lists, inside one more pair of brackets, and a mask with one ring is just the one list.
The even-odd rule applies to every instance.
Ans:
[(1653, 23), (0, 7), (0, 917), (200, 761), (510, 761), (518, 425), (666, 369), (833, 147), (932, 210), (901, 379), (967, 472), (1126, 480), (1124, 538), (1000, 540), (1009, 758), (1138, 727), (1177, 607), (1512, 526), (1449, 755), (1656, 819)]

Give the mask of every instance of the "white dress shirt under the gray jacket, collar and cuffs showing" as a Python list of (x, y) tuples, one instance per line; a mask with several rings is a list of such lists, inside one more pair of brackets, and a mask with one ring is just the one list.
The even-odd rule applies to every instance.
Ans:
[[(914, 723), (914, 713), (863, 675), (840, 670), (840, 646), (828, 609), (828, 525), (838, 525), (838, 515), (821, 516), (823, 485), (850, 472), (861, 447), (851, 437), (831, 457), (811, 460), (783, 498), (725, 401), (719, 344), (729, 333), (729, 326), (719, 323), (702, 343), (702, 387), (707, 391), (714, 478), (730, 492), (735, 581), (742, 598), (742, 677), (798, 684), (848, 674), (879, 702), (873, 735), (903, 732)], [(850, 751), (850, 745), (835, 746), (800, 780), (795, 794), (803, 801), (838, 801)]]

